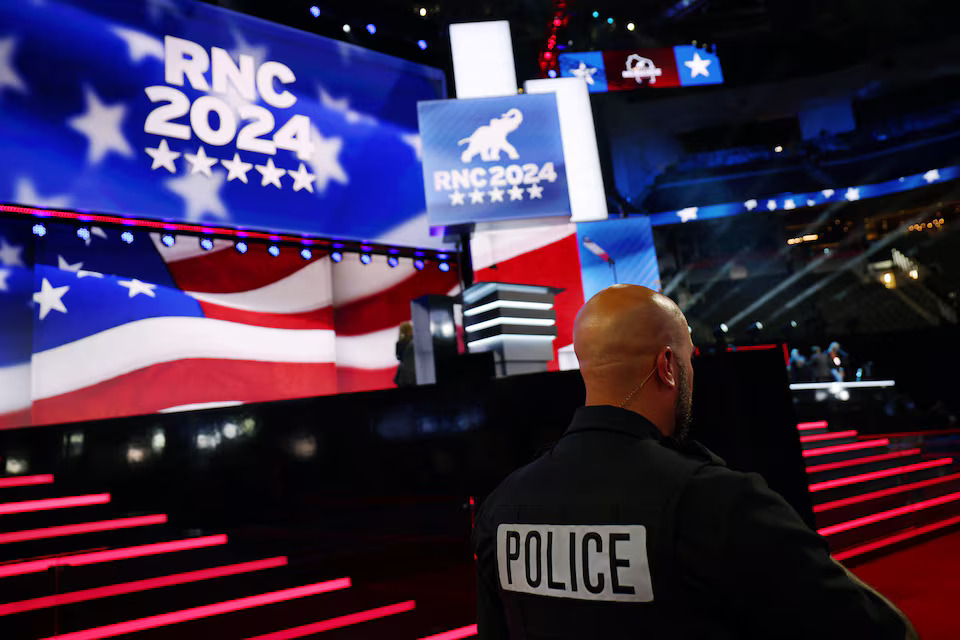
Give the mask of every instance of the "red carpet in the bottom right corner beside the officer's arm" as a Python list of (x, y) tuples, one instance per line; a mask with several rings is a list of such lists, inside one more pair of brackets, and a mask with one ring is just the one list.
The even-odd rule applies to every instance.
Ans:
[(960, 531), (852, 570), (907, 614), (921, 640), (960, 638)]

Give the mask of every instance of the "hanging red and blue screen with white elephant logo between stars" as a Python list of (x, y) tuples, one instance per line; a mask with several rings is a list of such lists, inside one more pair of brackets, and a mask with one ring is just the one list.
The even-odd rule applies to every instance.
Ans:
[(583, 78), (593, 93), (723, 84), (720, 58), (693, 45), (561, 53), (562, 77)]

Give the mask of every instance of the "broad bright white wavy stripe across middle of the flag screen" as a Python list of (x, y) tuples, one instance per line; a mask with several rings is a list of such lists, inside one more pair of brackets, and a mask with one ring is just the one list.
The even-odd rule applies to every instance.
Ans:
[(34, 400), (184, 358), (334, 362), (334, 332), (254, 327), (210, 318), (147, 318), (33, 356)]

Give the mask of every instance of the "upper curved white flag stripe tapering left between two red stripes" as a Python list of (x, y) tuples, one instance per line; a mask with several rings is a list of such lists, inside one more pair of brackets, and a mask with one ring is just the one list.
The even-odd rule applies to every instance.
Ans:
[(333, 301), (330, 259), (321, 258), (282, 280), (265, 287), (239, 293), (202, 293), (187, 295), (231, 309), (261, 313), (303, 313), (330, 306)]

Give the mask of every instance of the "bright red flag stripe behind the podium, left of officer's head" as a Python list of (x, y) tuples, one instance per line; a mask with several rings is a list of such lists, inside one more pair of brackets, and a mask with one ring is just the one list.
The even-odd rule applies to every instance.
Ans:
[(583, 282), (580, 279), (580, 253), (577, 235), (570, 234), (545, 247), (540, 247), (504, 262), (480, 269), (477, 282), (516, 282), (560, 287), (554, 309), (557, 313), (557, 339), (553, 341), (556, 369), (557, 349), (573, 343), (573, 319), (583, 306)]

